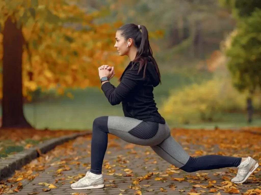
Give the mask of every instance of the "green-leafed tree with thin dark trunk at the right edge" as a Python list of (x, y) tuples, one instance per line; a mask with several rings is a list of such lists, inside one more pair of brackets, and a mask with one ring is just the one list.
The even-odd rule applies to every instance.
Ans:
[(248, 91), (248, 121), (252, 121), (252, 97), (261, 89), (261, 2), (259, 0), (220, 0), (232, 10), (237, 20), (230, 41), (226, 46), (228, 69), (233, 84), (240, 92)]

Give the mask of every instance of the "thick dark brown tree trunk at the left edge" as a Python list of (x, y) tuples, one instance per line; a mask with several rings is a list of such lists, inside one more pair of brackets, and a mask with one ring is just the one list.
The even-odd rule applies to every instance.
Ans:
[(3, 30), (2, 128), (32, 128), (23, 114), (23, 41), (22, 29), (9, 17)]

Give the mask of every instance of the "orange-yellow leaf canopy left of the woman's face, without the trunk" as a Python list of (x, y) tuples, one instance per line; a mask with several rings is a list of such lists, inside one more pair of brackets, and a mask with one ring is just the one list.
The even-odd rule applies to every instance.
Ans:
[[(97, 69), (102, 64), (114, 66), (116, 74), (122, 73), (124, 58), (118, 57), (114, 48), (115, 32), (121, 22), (95, 22), (104, 17), (106, 10), (88, 13), (77, 1), (6, 2), (0, 3), (1, 30), (11, 16), (17, 28), (22, 28), (26, 43), (22, 54), (23, 96), (38, 87), (55, 88), (63, 94), (67, 87), (98, 86)], [(1, 43), (2, 39), (0, 34)], [(0, 59), (3, 49), (0, 47)]]

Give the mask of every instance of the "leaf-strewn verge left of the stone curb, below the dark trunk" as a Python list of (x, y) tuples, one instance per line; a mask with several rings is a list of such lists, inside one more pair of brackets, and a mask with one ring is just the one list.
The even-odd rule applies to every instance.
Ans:
[(74, 130), (38, 130), (38, 129), (1, 129), (0, 130), (0, 158), (21, 152), (37, 144), (64, 135), (78, 133)]

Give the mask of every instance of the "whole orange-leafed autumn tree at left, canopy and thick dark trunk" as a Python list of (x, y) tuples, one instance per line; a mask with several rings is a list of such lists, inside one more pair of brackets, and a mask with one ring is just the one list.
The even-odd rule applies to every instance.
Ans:
[(124, 58), (114, 48), (121, 22), (95, 23), (106, 11), (88, 12), (70, 0), (1, 1), (0, 9), (2, 128), (31, 127), (23, 97), (30, 100), (38, 88), (63, 94), (67, 87), (98, 86), (102, 64), (121, 74)]

